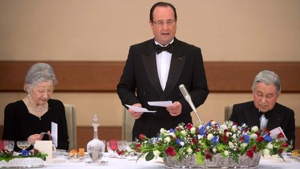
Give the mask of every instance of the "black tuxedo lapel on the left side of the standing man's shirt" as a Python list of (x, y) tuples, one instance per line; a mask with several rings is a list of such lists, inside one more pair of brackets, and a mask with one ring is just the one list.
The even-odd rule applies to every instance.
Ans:
[(142, 63), (144, 65), (144, 69), (151, 83), (151, 86), (153, 86), (158, 95), (161, 95), (161, 93), (163, 92), (163, 88), (160, 86), (160, 80), (157, 72), (154, 40), (152, 42), (149, 43), (146, 54), (142, 54), (141, 56)]

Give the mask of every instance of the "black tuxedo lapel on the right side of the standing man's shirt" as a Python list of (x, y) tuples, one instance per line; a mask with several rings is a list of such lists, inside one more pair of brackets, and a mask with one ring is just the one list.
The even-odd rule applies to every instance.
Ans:
[(183, 56), (183, 51), (181, 49), (181, 46), (179, 46), (178, 40), (176, 40), (175, 38), (167, 84), (165, 87), (165, 91), (163, 92), (163, 95), (161, 95), (160, 97), (160, 100), (165, 100), (167, 96), (174, 90), (174, 88), (178, 88), (176, 84), (183, 72), (185, 60), (186, 60), (186, 56)]

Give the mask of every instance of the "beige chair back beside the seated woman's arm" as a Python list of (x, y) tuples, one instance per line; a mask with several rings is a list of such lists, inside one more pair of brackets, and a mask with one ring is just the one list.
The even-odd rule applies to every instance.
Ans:
[(69, 150), (77, 149), (76, 108), (74, 105), (64, 104), (69, 135)]

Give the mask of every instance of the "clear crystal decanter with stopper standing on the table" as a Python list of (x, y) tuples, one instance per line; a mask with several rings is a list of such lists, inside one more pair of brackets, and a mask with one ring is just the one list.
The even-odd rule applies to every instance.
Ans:
[(105, 145), (103, 141), (98, 139), (98, 115), (95, 114), (93, 116), (94, 122), (92, 123), (92, 126), (94, 127), (94, 139), (90, 140), (90, 142), (87, 145), (87, 151), (88, 155), (90, 156), (90, 159), (92, 162), (99, 162), (102, 159), (102, 156), (104, 154), (104, 148)]

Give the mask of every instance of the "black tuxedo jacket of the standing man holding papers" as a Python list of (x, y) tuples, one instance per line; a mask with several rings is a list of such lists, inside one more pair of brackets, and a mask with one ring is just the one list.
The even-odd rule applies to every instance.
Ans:
[[(200, 106), (208, 96), (206, 73), (203, 67), (201, 49), (174, 38), (172, 60), (165, 90), (160, 86), (156, 67), (156, 45), (154, 39), (147, 40), (129, 49), (122, 77), (117, 85), (117, 94), (122, 104), (142, 104), (156, 113), (143, 113), (135, 120), (133, 139), (140, 134), (153, 137), (160, 128), (171, 129), (179, 123), (188, 124), (192, 117), (188, 102), (183, 98), (178, 86), (184, 84), (190, 92), (195, 107)], [(165, 107), (149, 106), (147, 102), (178, 101), (182, 113), (176, 117), (169, 115)]]

